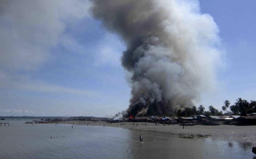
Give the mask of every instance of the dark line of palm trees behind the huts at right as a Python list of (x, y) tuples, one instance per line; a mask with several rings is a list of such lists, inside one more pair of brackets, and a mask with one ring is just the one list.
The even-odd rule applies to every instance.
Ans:
[[(225, 111), (225, 114), (246, 116), (256, 113), (256, 101), (248, 102), (245, 99), (238, 98), (234, 105), (230, 106), (230, 102), (225, 100), (221, 108)], [(230, 111), (228, 111), (228, 108)], [(198, 108), (196, 106), (192, 106), (192, 108), (186, 107), (178, 109), (176, 114), (179, 117), (191, 117), (193, 115), (224, 115), (223, 111), (219, 111), (214, 108), (214, 106), (208, 106), (208, 110), (209, 111), (205, 111), (205, 107), (203, 105), (199, 105)]]

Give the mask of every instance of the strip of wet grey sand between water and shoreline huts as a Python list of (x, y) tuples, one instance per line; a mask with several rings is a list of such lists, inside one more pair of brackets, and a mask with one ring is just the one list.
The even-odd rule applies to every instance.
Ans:
[[(75, 124), (89, 126), (111, 126), (126, 128), (130, 130), (143, 130), (151, 132), (175, 133), (175, 134), (195, 134), (211, 135), (210, 138), (215, 140), (235, 141), (241, 144), (249, 144), (256, 146), (256, 126), (235, 126), (235, 125), (218, 125), (218, 126), (179, 126), (163, 125), (148, 122), (119, 122), (107, 123), (102, 121), (62, 121), (59, 124)], [(79, 124), (80, 123), (80, 124)], [(134, 125), (133, 125), (134, 124)], [(137, 124), (137, 126), (136, 126)], [(146, 125), (145, 125), (146, 124)]]

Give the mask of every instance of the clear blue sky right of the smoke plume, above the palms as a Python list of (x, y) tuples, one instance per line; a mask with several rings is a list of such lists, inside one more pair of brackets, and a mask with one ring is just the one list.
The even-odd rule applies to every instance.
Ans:
[(256, 63), (256, 2), (253, 0), (200, 0), (201, 12), (208, 13), (219, 26), (225, 48), (225, 67), (218, 70), (220, 90), (203, 95), (202, 104), (212, 104), (219, 110), (222, 101), (232, 104), (239, 97), (255, 100)]

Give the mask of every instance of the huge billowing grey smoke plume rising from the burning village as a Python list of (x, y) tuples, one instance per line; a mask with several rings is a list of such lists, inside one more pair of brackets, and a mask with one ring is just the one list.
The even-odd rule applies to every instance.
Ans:
[(215, 85), (219, 29), (196, 0), (92, 0), (93, 16), (126, 43), (129, 115), (192, 106)]

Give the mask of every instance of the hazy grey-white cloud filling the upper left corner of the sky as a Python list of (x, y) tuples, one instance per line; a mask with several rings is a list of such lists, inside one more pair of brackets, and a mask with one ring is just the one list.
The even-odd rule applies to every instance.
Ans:
[(0, 2), (0, 69), (35, 70), (51, 56), (67, 23), (88, 16), (88, 1)]

